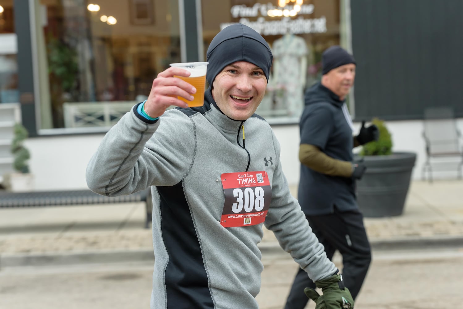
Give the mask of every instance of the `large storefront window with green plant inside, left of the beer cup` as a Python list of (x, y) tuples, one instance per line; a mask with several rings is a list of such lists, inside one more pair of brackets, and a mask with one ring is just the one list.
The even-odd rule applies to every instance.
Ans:
[(178, 0), (36, 0), (35, 12), (41, 129), (112, 126), (180, 62)]

